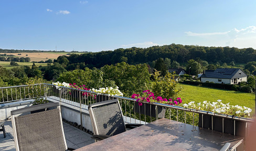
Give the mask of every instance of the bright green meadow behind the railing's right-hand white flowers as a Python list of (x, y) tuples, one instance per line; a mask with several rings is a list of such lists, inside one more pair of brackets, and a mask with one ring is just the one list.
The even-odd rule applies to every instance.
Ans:
[(183, 87), (183, 90), (179, 96), (182, 98), (184, 103), (188, 103), (190, 101), (195, 101), (197, 103), (202, 101), (217, 102), (217, 100), (220, 99), (222, 100), (222, 103), (230, 102), (231, 105), (250, 107), (252, 109), (252, 113), (254, 113), (255, 94), (253, 93), (212, 89), (187, 84), (180, 85)]

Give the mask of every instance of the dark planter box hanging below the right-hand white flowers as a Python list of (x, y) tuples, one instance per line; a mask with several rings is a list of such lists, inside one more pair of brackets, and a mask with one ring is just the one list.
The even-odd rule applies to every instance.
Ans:
[[(211, 119), (211, 117), (213, 117), (213, 119)], [(212, 124), (212, 121), (214, 122), (213, 124)], [(202, 121), (202, 114), (199, 114), (199, 122), (198, 122), (199, 127), (208, 128), (212, 130), (212, 125), (213, 125), (214, 131), (222, 132), (223, 131), (222, 122), (223, 122), (224, 133), (234, 135), (234, 120), (230, 118), (224, 118), (224, 120), (222, 120), (222, 117), (204, 114), (203, 121)], [(236, 135), (244, 137), (244, 134), (245, 134), (244, 132), (246, 132), (245, 130), (246, 130), (246, 122), (236, 121), (236, 130), (235, 130)]]

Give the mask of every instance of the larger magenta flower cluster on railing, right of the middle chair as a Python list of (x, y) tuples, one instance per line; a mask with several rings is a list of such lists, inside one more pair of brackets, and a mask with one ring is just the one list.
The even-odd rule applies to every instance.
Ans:
[(138, 105), (142, 105), (142, 102), (157, 102), (157, 103), (164, 103), (169, 105), (178, 105), (182, 103), (182, 99), (166, 99), (162, 98), (162, 96), (155, 96), (153, 92), (150, 90), (143, 91), (142, 95), (140, 94), (132, 94), (132, 99), (136, 99), (136, 102), (138, 102)]

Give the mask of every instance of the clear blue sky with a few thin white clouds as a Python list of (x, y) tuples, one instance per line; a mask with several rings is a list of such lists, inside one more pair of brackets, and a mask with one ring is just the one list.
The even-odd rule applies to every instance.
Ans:
[(0, 1), (0, 48), (105, 51), (155, 45), (256, 49), (256, 1)]

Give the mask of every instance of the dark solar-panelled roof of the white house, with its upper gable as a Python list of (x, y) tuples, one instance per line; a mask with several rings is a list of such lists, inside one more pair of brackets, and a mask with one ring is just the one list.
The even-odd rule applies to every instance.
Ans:
[(235, 79), (247, 76), (248, 75), (239, 68), (224, 68), (216, 70), (206, 70), (200, 78)]

